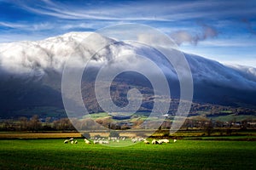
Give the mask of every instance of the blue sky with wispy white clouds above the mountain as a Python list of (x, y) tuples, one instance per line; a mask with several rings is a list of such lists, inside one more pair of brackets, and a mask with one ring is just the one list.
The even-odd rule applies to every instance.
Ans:
[(0, 42), (137, 23), (163, 31), (186, 53), (256, 67), (256, 1), (0, 0)]

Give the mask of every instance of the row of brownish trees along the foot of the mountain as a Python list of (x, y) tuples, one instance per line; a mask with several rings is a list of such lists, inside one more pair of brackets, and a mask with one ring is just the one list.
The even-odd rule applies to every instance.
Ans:
[[(110, 117), (98, 118), (96, 122), (87, 119), (69, 119), (67, 117), (54, 120), (51, 117), (47, 117), (42, 120), (39, 116), (32, 116), (30, 119), (27, 117), (20, 117), (17, 120), (3, 120), (0, 122), (0, 131), (74, 131), (75, 127), (78, 127), (81, 130), (100, 130), (102, 127), (115, 129), (115, 130), (126, 130), (126, 129), (153, 129), (159, 127), (160, 129), (170, 129), (172, 127), (172, 120), (165, 120), (164, 122), (160, 121), (149, 121), (143, 122), (143, 120), (136, 120), (133, 122), (115, 122)], [(73, 126), (74, 125), (74, 126)], [(99, 126), (101, 125), (101, 126)], [(192, 129), (197, 128), (201, 130), (210, 130), (216, 128), (231, 128), (236, 127), (240, 129), (255, 129), (256, 122), (255, 120), (244, 120), (237, 122), (236, 120), (230, 122), (220, 122), (214, 121), (212, 119), (206, 120), (195, 120), (187, 119), (182, 128), (183, 129)]]

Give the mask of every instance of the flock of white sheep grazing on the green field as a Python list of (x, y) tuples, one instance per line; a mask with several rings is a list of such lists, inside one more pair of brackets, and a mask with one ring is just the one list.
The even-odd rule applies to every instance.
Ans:
[[(115, 142), (115, 143), (119, 143), (120, 141), (125, 140), (125, 137), (108, 137), (108, 138), (91, 138), (91, 141), (88, 139), (84, 139), (84, 143), (85, 144), (109, 144), (110, 142)], [(131, 138), (131, 142), (133, 143), (137, 143), (137, 142), (143, 142), (144, 144), (150, 144), (150, 142), (148, 141), (148, 139), (142, 138), (142, 137), (136, 137), (136, 138)], [(173, 142), (176, 143), (177, 139), (173, 139)], [(66, 139), (64, 140), (64, 144), (78, 144), (78, 140), (74, 140), (73, 138), (71, 139)], [(151, 141), (151, 144), (167, 144), (170, 143), (169, 139), (153, 139)]]

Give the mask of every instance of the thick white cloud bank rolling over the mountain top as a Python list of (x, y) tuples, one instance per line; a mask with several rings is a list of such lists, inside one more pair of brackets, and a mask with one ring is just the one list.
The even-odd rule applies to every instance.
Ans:
[[(91, 32), (70, 32), (42, 41), (0, 43), (0, 70), (19, 77), (26, 75), (40, 78), (49, 71), (56, 71), (61, 75), (69, 57), (75, 57), (73, 59), (75, 68), (84, 67), (84, 60), (93, 56), (90, 60), (92, 66), (112, 65), (115, 69), (131, 66), (133, 70), (141, 69), (154, 74), (154, 70), (148, 68), (143, 59), (138, 59), (134, 55), (139, 54), (153, 60), (168, 76), (176, 77), (172, 66), (166, 64), (166, 60), (162, 59), (160, 53), (154, 48), (143, 47), (136, 43), (115, 42), (113, 39), (96, 34), (88, 38), (90, 35)], [(215, 35), (214, 32), (205, 28), (199, 39), (212, 35)], [(84, 41), (86, 38), (88, 41)], [(149, 40), (154, 40), (154, 38)], [(102, 47), (107, 43), (113, 43), (113, 45), (97, 51), (99, 46)], [(98, 53), (95, 54), (96, 52)], [(231, 69), (210, 59), (192, 54), (185, 55), (195, 82), (209, 81), (234, 88), (253, 89), (256, 87), (255, 69), (253, 68)]]

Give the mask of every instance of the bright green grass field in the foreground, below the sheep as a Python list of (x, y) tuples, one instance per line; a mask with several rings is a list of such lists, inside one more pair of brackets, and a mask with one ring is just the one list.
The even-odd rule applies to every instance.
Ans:
[(178, 140), (108, 147), (78, 140), (79, 144), (63, 144), (63, 139), (0, 140), (0, 169), (256, 169), (252, 141)]

